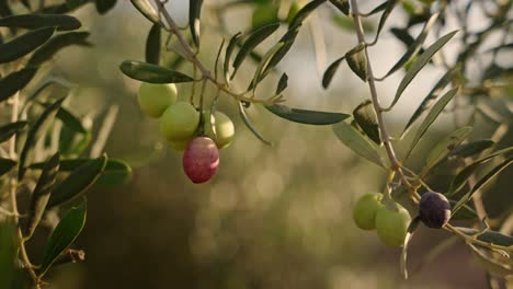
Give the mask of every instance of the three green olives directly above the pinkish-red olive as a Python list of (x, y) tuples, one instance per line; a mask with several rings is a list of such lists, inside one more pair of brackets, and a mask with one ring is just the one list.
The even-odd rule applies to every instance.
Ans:
[[(141, 111), (153, 118), (159, 118), (160, 134), (171, 147), (183, 151), (195, 137), (200, 126), (200, 112), (187, 102), (176, 102), (176, 86), (170, 84), (153, 84), (142, 82), (139, 89), (138, 102)], [(204, 113), (205, 136), (216, 142), (221, 149), (231, 143), (235, 126), (231, 119), (220, 112)]]

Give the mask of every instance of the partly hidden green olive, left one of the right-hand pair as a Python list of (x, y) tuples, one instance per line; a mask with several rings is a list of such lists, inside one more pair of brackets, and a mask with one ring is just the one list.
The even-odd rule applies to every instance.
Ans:
[(376, 212), (383, 207), (383, 195), (379, 193), (369, 193), (363, 195), (354, 206), (353, 220), (360, 229), (376, 229)]

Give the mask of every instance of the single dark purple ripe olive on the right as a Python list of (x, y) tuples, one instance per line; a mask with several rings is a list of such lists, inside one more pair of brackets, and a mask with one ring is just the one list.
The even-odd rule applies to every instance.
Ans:
[(448, 199), (435, 192), (422, 195), (419, 205), (421, 221), (429, 228), (441, 229), (451, 219), (451, 204)]

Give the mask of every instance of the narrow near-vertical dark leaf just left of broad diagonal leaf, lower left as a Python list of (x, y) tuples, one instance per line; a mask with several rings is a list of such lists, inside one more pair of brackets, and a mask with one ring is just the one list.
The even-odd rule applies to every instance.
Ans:
[(48, 162), (45, 163), (45, 167), (43, 169), (34, 192), (32, 193), (31, 206), (29, 208), (29, 217), (25, 227), (25, 238), (27, 239), (32, 236), (37, 224), (39, 224), (43, 213), (45, 212), (52, 188), (54, 187), (57, 173), (59, 171), (59, 159), (60, 154), (57, 152), (48, 160)]

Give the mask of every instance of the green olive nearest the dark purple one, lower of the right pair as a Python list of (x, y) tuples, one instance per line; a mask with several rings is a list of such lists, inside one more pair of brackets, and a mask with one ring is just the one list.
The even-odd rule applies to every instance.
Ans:
[(411, 217), (407, 209), (396, 204), (396, 209), (383, 206), (376, 212), (376, 231), (379, 239), (391, 247), (401, 247), (404, 243)]

